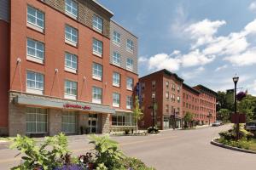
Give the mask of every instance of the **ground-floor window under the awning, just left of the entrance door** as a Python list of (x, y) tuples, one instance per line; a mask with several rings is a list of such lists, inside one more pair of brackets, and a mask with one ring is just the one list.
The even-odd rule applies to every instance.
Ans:
[(61, 131), (64, 133), (76, 133), (76, 122), (74, 111), (64, 111), (61, 116)]

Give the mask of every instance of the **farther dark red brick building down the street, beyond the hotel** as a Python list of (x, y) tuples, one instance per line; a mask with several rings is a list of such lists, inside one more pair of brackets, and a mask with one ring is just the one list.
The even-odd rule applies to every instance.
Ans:
[[(207, 124), (216, 120), (216, 93), (202, 85), (189, 87), (166, 69), (139, 78), (140, 100), (144, 113), (140, 127), (152, 126), (152, 97), (157, 105), (154, 122), (160, 129), (182, 127), (187, 112), (194, 115), (192, 123)], [(175, 115), (175, 118), (174, 118)]]

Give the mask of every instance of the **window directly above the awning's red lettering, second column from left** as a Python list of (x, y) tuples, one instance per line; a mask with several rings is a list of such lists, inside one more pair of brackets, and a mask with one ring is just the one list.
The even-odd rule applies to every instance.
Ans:
[(78, 82), (65, 80), (65, 98), (77, 99), (78, 94)]

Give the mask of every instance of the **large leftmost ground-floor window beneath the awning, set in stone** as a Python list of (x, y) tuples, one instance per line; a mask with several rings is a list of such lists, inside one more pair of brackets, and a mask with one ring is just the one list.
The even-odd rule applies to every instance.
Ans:
[(26, 133), (47, 133), (47, 112), (40, 108), (26, 108)]

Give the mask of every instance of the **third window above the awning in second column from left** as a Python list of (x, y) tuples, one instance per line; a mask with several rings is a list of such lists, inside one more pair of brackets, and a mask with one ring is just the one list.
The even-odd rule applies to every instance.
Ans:
[(76, 46), (78, 43), (78, 30), (72, 26), (65, 26), (65, 42)]

